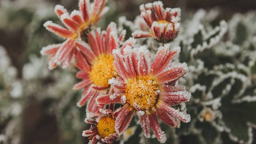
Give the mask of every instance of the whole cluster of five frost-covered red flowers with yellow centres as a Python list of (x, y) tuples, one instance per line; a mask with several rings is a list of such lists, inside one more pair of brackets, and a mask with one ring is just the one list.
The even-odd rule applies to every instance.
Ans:
[[(44, 47), (41, 54), (50, 55), (49, 69), (75, 65), (80, 70), (76, 77), (82, 81), (73, 89), (84, 89), (77, 106), (87, 102), (85, 122), (95, 126), (84, 131), (83, 136), (88, 136), (90, 143), (112, 143), (127, 129), (135, 113), (145, 137), (150, 137), (151, 128), (163, 143), (166, 135), (157, 117), (178, 128), (180, 121), (190, 121), (189, 114), (172, 107), (190, 99), (190, 92), (176, 83), (188, 67), (186, 63), (173, 62), (180, 47), (170, 49), (170, 44), (164, 44), (153, 59), (147, 47), (134, 47), (134, 38), (172, 41), (180, 29), (180, 8), (164, 9), (160, 1), (141, 5), (149, 32), (136, 31), (124, 41), (126, 31), (119, 34), (114, 22), (103, 31), (95, 26), (108, 11), (105, 4), (106, 0), (80, 0), (79, 11), (71, 14), (56, 5), (55, 12), (66, 28), (52, 21), (45, 22), (44, 27), (66, 41)], [(115, 103), (123, 106), (116, 109)]]

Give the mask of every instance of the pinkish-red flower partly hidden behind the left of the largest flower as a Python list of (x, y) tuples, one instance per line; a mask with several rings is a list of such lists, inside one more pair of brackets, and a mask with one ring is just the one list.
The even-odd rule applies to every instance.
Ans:
[[(97, 112), (99, 108), (95, 102), (95, 98), (98, 95), (106, 94), (110, 84), (108, 80), (116, 77), (117, 72), (114, 68), (114, 57), (112, 55), (113, 49), (121, 49), (127, 45), (133, 45), (135, 40), (133, 38), (124, 42), (126, 31), (122, 31), (119, 38), (117, 35), (117, 28), (114, 22), (108, 25), (107, 30), (100, 31), (92, 30), (88, 34), (88, 42), (77, 42), (76, 46), (83, 53), (77, 53), (76, 66), (81, 71), (77, 72), (76, 77), (83, 79), (76, 84), (73, 89), (84, 89), (81, 100), (77, 103), (77, 106), (82, 107), (86, 101), (89, 100), (87, 105), (87, 111)], [(110, 93), (112, 91), (109, 91)]]

